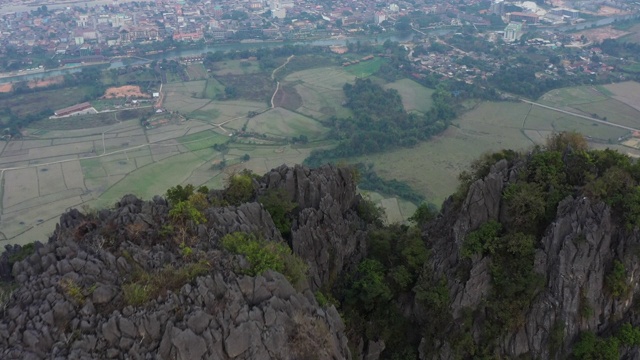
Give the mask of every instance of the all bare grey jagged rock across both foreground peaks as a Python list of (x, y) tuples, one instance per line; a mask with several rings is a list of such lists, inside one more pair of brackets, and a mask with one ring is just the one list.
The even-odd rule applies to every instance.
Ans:
[[(527, 155), (497, 161), (470, 184), (460, 202), (445, 202), (421, 228), (421, 238), (419, 229), (389, 227), (415, 231), (429, 256), (419, 265), (417, 285), (394, 294), (383, 308), (398, 307), (397, 314), (410, 320), (404, 329), (410, 335), (433, 323), (442, 325), (436, 341), (423, 337), (417, 349), (405, 354), (460, 358), (463, 337), (467, 357), (482, 350), (496, 358), (562, 359), (584, 332), (606, 337), (624, 323), (640, 327), (638, 229), (621, 225), (620, 215), (604, 202), (574, 194), (554, 203), (551, 220), (534, 230), (529, 259), (541, 283), (532, 285), (536, 291), (524, 311), (489, 339), (495, 346), (480, 348), (487, 341), (492, 316), (487, 302), (496, 296), (493, 271), (499, 264), (487, 253), (463, 254), (464, 244), (487, 222), (513, 224), (504, 194), (522, 180), (527, 161)], [(0, 357), (349, 359), (351, 349), (358, 359), (389, 358), (390, 342), (345, 328), (336, 308), (320, 306), (314, 297), (316, 290), (348, 286), (340, 280), (358, 274), (361, 260), (375, 250), (367, 254), (370, 231), (377, 225), (359, 216), (363, 199), (353, 176), (333, 166), (281, 166), (254, 178), (256, 196), (282, 189), (297, 205), (291, 234), (283, 239), (258, 202), (210, 207), (203, 211), (206, 223), (190, 226), (193, 255), (182, 252), (178, 238), (167, 241), (163, 235), (170, 207), (161, 197), (125, 196), (111, 210), (64, 214), (49, 242), (37, 244), (35, 253), (12, 267), (9, 259), (20, 249), (9, 248), (0, 258), (0, 276), (17, 284), (0, 313)], [(209, 196), (222, 195), (214, 191)], [(274, 271), (242, 275), (247, 260), (220, 248), (220, 240), (234, 232), (288, 242), (309, 265), (308, 283), (296, 289)], [(161, 276), (167, 268), (198, 270), (201, 264), (207, 265), (206, 272), (185, 284), (167, 286), (144, 304), (126, 305), (123, 289), (134, 274)], [(617, 265), (624, 268), (621, 280), (628, 287), (614, 295), (607, 283)], [(383, 280), (377, 279), (376, 286)], [(444, 293), (428, 293), (441, 286)], [(344, 296), (344, 289), (337, 290), (334, 294), (342, 290)], [(425, 308), (425, 292), (429, 304), (439, 304), (435, 311)], [(372, 320), (363, 314), (358, 319)], [(621, 346), (619, 354), (640, 358), (637, 346)]]

